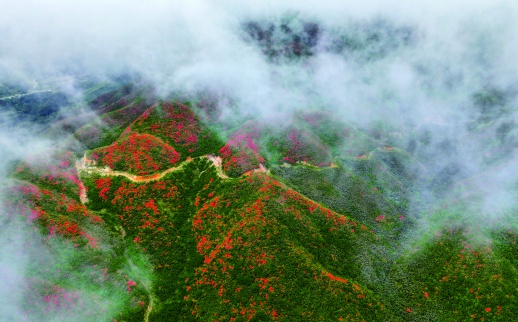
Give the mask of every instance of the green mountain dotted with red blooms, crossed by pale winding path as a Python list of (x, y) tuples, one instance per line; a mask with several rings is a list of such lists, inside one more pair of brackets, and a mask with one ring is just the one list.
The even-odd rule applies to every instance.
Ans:
[[(246, 28), (267, 55), (267, 30), (293, 33)], [(294, 39), (312, 48), (315, 28)], [(42, 110), (41, 133), (67, 139), (2, 183), (9, 220), (48, 253), (30, 257), (28, 320), (516, 320), (516, 230), (464, 220), (480, 202), (470, 184), (505, 165), (498, 153), (483, 171), (441, 172), (426, 131), (318, 110), (225, 122), (211, 98), (122, 83), (84, 83), (94, 113), (71, 98), (73, 113)], [(485, 125), (473, 135), (501, 127), (495, 95), (474, 97)], [(492, 151), (511, 144), (500, 132)]]

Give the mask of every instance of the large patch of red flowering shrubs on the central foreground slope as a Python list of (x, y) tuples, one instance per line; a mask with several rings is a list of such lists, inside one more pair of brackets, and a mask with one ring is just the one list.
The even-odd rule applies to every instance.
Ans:
[[(211, 301), (230, 307), (225, 319), (282, 319), (290, 314), (290, 309), (279, 299), (297, 298), (302, 294), (300, 284), (321, 289), (330, 302), (343, 301), (340, 302), (343, 310), (348, 310), (351, 303), (369, 302), (372, 308), (380, 309), (380, 303), (373, 302), (372, 295), (355, 278), (343, 277), (353, 275), (353, 265), (346, 267), (343, 262), (330, 265), (331, 273), (309, 261), (299, 262), (300, 258), (309, 256), (324, 258), (323, 252), (329, 250), (324, 243), (343, 242), (344, 236), (365, 238), (373, 236), (371, 232), (363, 229), (353, 232), (351, 228), (356, 227), (356, 222), (286, 189), (266, 175), (247, 176), (239, 184), (228, 185), (227, 189), (231, 190), (209, 194), (211, 198), (205, 203), (203, 199), (195, 202), (198, 211), (192, 220), (192, 231), (203, 264), (196, 268), (195, 278), (189, 278), (185, 298), (198, 304), (193, 309), (195, 316), (209, 316), (199, 309), (201, 307), (210, 308), (210, 313), (221, 311), (207, 306), (207, 301)], [(285, 231), (290, 232), (288, 240), (293, 243), (281, 251), (279, 243), (287, 242)], [(299, 246), (299, 242), (313, 246)], [(350, 248), (344, 246), (341, 251), (347, 252), (347, 249)], [(331, 254), (327, 256), (332, 258)], [(357, 314), (363, 317), (368, 311)], [(313, 314), (311, 310), (303, 313)], [(331, 320), (334, 315), (326, 314), (320, 312), (317, 316)]]

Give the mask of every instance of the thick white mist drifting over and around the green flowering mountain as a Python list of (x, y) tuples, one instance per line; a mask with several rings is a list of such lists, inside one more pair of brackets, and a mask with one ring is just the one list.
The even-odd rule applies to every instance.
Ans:
[[(419, 164), (408, 239), (443, 223), (486, 238), (518, 225), (517, 21), (516, 3), (489, 0), (12, 1), (0, 11), (0, 85), (28, 92), (45, 79), (131, 74), (164, 98), (217, 97), (223, 124), (280, 127), (308, 110), (367, 131), (381, 124), (394, 133), (387, 144)], [(73, 84), (53, 88), (81, 95)], [(7, 119), (0, 114), (2, 175), (63, 139), (33, 138)], [(0, 281), (23, 289), (11, 273), (30, 256), (13, 252), (25, 239), (9, 239), (11, 229), (0, 227), (0, 270), (14, 277)]]

